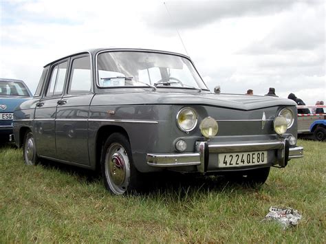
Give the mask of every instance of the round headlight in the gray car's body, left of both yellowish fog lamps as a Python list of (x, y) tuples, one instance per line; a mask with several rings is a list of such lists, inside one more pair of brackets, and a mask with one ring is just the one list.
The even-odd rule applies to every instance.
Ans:
[(177, 113), (177, 126), (182, 131), (193, 131), (197, 125), (197, 113), (195, 110), (185, 107)]

